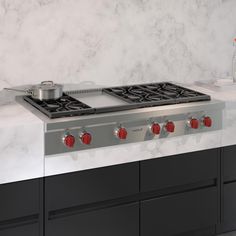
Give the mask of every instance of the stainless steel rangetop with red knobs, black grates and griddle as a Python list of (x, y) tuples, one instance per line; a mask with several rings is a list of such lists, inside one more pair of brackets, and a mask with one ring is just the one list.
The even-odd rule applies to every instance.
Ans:
[(45, 123), (45, 155), (222, 128), (224, 103), (172, 83), (64, 92), (17, 100)]

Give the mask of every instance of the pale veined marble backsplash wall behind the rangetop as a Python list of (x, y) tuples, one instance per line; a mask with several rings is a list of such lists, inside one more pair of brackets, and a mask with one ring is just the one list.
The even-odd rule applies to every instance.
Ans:
[(236, 0), (0, 0), (0, 90), (231, 73)]

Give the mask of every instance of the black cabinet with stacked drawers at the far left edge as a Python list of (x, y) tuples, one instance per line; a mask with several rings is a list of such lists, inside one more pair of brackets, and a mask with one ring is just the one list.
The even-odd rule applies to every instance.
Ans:
[(39, 236), (40, 180), (0, 185), (0, 236)]

